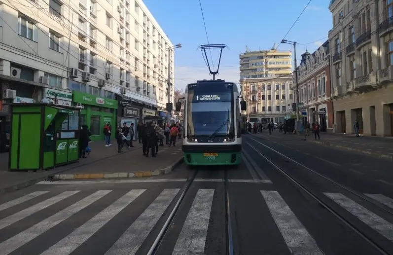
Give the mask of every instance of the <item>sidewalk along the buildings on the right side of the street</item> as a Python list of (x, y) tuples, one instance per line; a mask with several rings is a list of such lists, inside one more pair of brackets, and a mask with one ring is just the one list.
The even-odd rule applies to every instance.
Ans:
[[(279, 133), (278, 131), (273, 132), (269, 135), (269, 132), (258, 133), (258, 136), (268, 140), (298, 140), (298, 135)], [(351, 151), (357, 151), (364, 154), (369, 154), (377, 157), (393, 159), (393, 140), (391, 138), (372, 137), (372, 136), (360, 136), (356, 138), (355, 135), (346, 134), (329, 134), (320, 133), (321, 140), (315, 140), (314, 134), (310, 133), (307, 137), (307, 141), (323, 144), (326, 146), (333, 146), (341, 149), (347, 149)]]

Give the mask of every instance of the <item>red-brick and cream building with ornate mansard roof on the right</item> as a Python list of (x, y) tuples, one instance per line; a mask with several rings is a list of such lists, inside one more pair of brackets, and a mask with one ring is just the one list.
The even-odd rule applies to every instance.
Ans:
[(330, 89), (330, 51), (329, 41), (325, 41), (312, 54), (306, 51), (301, 55), (297, 67), (299, 101), (302, 112), (310, 123), (319, 122), (322, 132), (332, 132), (333, 102)]

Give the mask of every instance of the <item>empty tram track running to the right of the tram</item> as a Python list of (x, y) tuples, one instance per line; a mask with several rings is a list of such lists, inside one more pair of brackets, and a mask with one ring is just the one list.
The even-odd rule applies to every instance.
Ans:
[[(361, 193), (353, 190), (352, 188), (349, 188), (339, 182), (336, 182), (321, 173), (318, 173), (317, 171), (301, 164), (300, 162), (297, 162), (296, 160), (284, 155), (283, 153), (275, 150), (274, 148), (267, 146), (256, 139), (250, 138), (251, 140), (255, 141), (259, 145), (263, 146), (264, 148), (274, 152), (275, 154), (279, 155), (281, 158), (285, 159), (287, 162), (294, 163), (298, 165), (301, 169), (304, 169), (312, 174), (317, 175), (318, 177), (321, 177), (323, 180), (329, 182), (330, 184), (333, 184), (339, 188), (342, 188), (346, 190), (347, 192), (351, 193), (352, 195), (357, 196), (359, 199), (370, 203), (371, 205), (377, 207), (377, 209), (382, 210), (385, 213), (388, 213), (390, 215), (393, 215), (393, 212), (387, 208), (385, 208), (385, 205), (378, 202), (378, 201), (373, 201), (371, 198), (362, 195)], [(298, 180), (296, 177), (293, 176), (293, 174), (290, 174), (289, 171), (284, 169), (283, 167), (280, 167), (278, 164), (274, 162), (274, 160), (266, 155), (265, 153), (261, 152), (260, 149), (257, 149), (256, 147), (252, 146), (250, 143), (248, 143), (248, 146), (250, 146), (256, 153), (258, 153), (264, 160), (266, 160), (270, 165), (272, 165), (282, 176), (284, 176), (289, 182), (293, 183), (295, 187), (297, 187), (299, 190), (304, 191), (307, 193), (310, 197), (312, 197), (315, 201), (317, 201), (323, 208), (325, 208), (327, 211), (329, 211), (333, 216), (335, 216), (337, 219), (339, 219), (342, 223), (347, 225), (350, 229), (352, 229), (354, 232), (356, 232), (364, 241), (369, 243), (373, 248), (375, 248), (380, 254), (383, 255), (390, 255), (391, 253), (387, 251), (382, 245), (380, 245), (378, 242), (374, 240), (370, 236), (370, 234), (365, 233), (360, 227), (358, 227), (356, 224), (351, 222), (351, 220), (347, 219), (345, 216), (343, 216), (338, 210), (336, 210), (333, 206), (329, 205), (329, 203), (325, 202), (326, 197), (322, 196), (322, 193), (319, 194), (318, 192), (312, 191), (310, 188), (307, 187), (306, 184), (304, 184), (302, 181)]]

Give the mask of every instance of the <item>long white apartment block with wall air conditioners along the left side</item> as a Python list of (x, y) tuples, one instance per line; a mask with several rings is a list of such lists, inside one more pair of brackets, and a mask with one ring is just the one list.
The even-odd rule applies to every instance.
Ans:
[[(1, 103), (56, 97), (58, 104), (74, 105), (81, 103), (75, 94), (89, 95), (93, 103), (117, 100), (119, 107), (113, 101), (112, 109), (94, 108), (113, 112), (111, 122), (117, 123), (123, 106), (138, 109), (130, 110), (142, 120), (165, 111), (168, 96), (174, 101), (173, 86), (167, 95), (168, 72), (174, 84), (174, 47), (142, 0), (3, 1), (0, 17)], [(0, 107), (3, 123), (8, 110)], [(105, 121), (82, 120), (97, 126)]]

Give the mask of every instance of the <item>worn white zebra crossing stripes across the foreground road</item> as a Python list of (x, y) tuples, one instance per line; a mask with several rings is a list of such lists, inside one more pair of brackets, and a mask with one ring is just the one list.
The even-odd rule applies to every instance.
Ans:
[[(141, 249), (146, 238), (160, 227), (160, 220), (164, 219), (165, 212), (171, 204), (177, 202), (179, 188), (167, 188), (153, 194), (152, 202), (145, 204), (141, 209), (141, 214), (136, 216), (133, 222), (128, 222), (125, 231), (118, 233), (118, 238), (110, 247), (102, 251), (104, 255), (136, 255)], [(102, 204), (114, 190), (96, 190), (83, 193), (81, 190), (68, 190), (60, 194), (51, 191), (35, 191), (30, 194), (18, 197), (14, 200), (0, 204), (0, 255), (8, 255), (15, 251), (18, 254), (34, 255), (30, 251), (23, 252), (26, 245), (34, 245), (35, 240), (51, 229), (57, 229), (56, 242), (46, 244), (45, 250), (38, 253), (40, 255), (70, 255), (79, 247), (83, 246), (93, 235), (108, 233), (100, 232), (111, 220), (118, 217), (126, 208), (132, 208), (135, 200), (145, 201), (144, 197), (147, 189), (132, 189), (125, 191), (125, 194), (117, 196), (117, 199)], [(123, 192), (123, 191), (122, 191)], [(173, 255), (183, 254), (206, 254), (205, 242), (212, 233), (208, 231), (210, 219), (214, 217), (212, 205), (214, 202), (214, 188), (197, 189), (193, 202), (187, 210), (186, 218), (181, 224), (177, 241), (174, 243)], [(359, 223), (366, 224), (376, 233), (381, 234), (387, 240), (393, 242), (393, 224), (387, 219), (383, 219), (376, 213), (371, 212), (364, 206), (355, 202), (342, 193), (323, 193), (341, 208), (359, 219)], [(79, 195), (79, 196), (78, 196)], [(265, 203), (277, 229), (283, 237), (283, 244), (286, 244), (288, 251), (292, 254), (325, 254), (309, 233), (302, 222), (287, 205), (285, 199), (275, 190), (260, 190), (257, 194), (259, 201), (253, 203)], [(393, 208), (393, 199), (382, 194), (365, 194), (366, 196)], [(68, 206), (59, 204), (68, 201)], [(33, 201), (33, 202), (32, 202)], [(148, 199), (146, 201), (149, 201)], [(92, 207), (99, 207), (99, 211), (91, 210)], [(18, 208), (18, 210), (13, 210)], [(59, 210), (56, 210), (59, 208)], [(20, 209), (20, 210), (19, 210)], [(50, 209), (55, 212), (53, 215), (39, 220), (31, 220), (30, 225), (26, 219)], [(71, 229), (64, 231), (65, 223), (72, 222), (73, 217), (78, 217), (82, 211), (84, 213), (93, 212), (89, 219)], [(98, 212), (98, 213), (97, 213)], [(216, 216), (218, 217), (218, 216)], [(220, 215), (219, 217), (222, 217)], [(24, 229), (13, 236), (12, 229), (19, 221), (25, 220)], [(250, 219), (252, 220), (252, 219)], [(255, 219), (257, 220), (257, 219)], [(38, 222), (37, 222), (38, 221)], [(20, 227), (19, 227), (20, 229)], [(151, 245), (152, 242), (145, 242)], [(95, 244), (100, 246), (100, 243)]]

